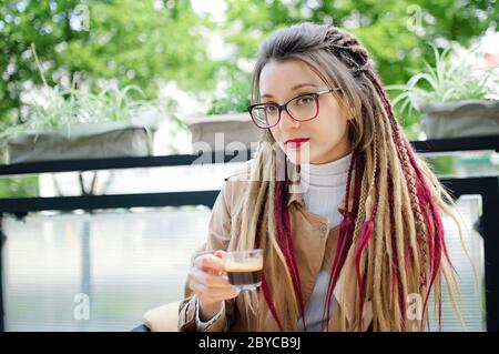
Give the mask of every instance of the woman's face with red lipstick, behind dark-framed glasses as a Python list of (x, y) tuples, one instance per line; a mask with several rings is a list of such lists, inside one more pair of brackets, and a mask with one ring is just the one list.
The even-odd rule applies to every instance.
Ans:
[[(262, 102), (284, 104), (307, 93), (333, 89), (327, 87), (307, 64), (298, 60), (271, 61), (259, 75)], [(271, 133), (294, 163), (326, 163), (338, 160), (350, 151), (347, 134), (348, 112), (344, 112), (333, 93), (318, 98), (319, 113), (309, 121), (298, 122), (283, 110)], [(309, 139), (304, 143), (291, 139)], [(287, 143), (286, 143), (287, 142)]]

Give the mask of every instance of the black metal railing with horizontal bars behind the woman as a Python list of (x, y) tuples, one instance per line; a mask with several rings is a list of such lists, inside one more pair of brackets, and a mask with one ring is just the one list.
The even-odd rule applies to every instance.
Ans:
[[(455, 151), (499, 151), (499, 136), (462, 138), (411, 142), (419, 153)], [(193, 165), (198, 163), (241, 162), (251, 159), (252, 151), (212, 152), (211, 154), (179, 154), (146, 158), (112, 158), (88, 160), (61, 160), (0, 165), (0, 178), (54, 172), (82, 172), (113, 169), (136, 169), (157, 166)], [(487, 331), (499, 331), (499, 176), (477, 176), (464, 179), (440, 179), (455, 198), (479, 194), (482, 198), (482, 215), (479, 231), (485, 246), (485, 283)], [(81, 195), (57, 198), (7, 198), (0, 199), (1, 246), (7, 237), (2, 229), (2, 215), (24, 216), (38, 211), (98, 210), (134, 206), (213, 206), (218, 190), (167, 193), (139, 193), (112, 195)], [(3, 324), (2, 257), (0, 249), (0, 331)]]

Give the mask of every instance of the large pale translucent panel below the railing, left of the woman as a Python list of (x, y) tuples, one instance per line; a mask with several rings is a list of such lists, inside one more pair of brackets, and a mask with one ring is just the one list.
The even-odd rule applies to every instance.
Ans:
[(208, 218), (208, 209), (6, 218), (7, 331), (140, 325), (145, 311), (183, 297)]

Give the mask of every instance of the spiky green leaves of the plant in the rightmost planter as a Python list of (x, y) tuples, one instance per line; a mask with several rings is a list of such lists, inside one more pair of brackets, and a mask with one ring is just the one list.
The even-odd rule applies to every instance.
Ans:
[(407, 107), (409, 112), (418, 109), (422, 102), (454, 102), (462, 100), (483, 100), (491, 90), (499, 87), (499, 77), (493, 70), (477, 73), (467, 61), (471, 54), (468, 51), (459, 61), (452, 62), (450, 49), (441, 52), (431, 45), (435, 52), (435, 65), (425, 62), (426, 70), (414, 74), (406, 84), (389, 85), (390, 90), (401, 90), (393, 103), (401, 103), (401, 110)]

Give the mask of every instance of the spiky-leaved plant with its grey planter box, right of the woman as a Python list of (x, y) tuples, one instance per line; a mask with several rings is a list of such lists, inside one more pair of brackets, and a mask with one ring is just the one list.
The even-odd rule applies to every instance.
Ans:
[[(421, 113), (421, 125), (429, 139), (499, 134), (499, 75), (493, 69), (478, 70), (468, 61), (468, 52), (451, 62), (450, 49), (441, 53), (432, 47), (435, 65), (413, 75), (394, 99), (401, 110)], [(496, 69), (497, 70), (497, 69)]]

